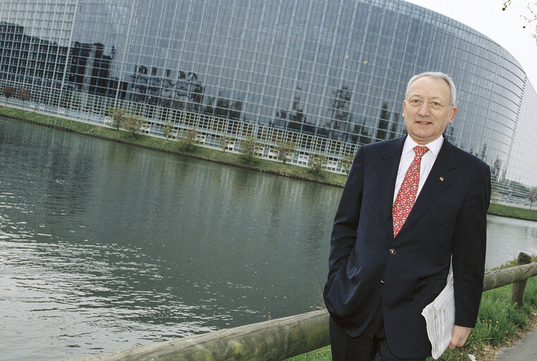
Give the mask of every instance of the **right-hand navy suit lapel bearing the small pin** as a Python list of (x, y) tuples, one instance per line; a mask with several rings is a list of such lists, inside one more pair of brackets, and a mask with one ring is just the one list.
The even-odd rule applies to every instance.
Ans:
[[(454, 170), (456, 169), (456, 163), (453, 159), (453, 145), (447, 140), (444, 140), (438, 157), (436, 157), (435, 164), (430, 170), (423, 188), (412, 207), (409, 217), (404, 222), (401, 231), (404, 228), (410, 226), (414, 221), (419, 219), (421, 214), (430, 207), (436, 198), (445, 191), (450, 183), (454, 180)], [(399, 232), (401, 232), (399, 231)]]

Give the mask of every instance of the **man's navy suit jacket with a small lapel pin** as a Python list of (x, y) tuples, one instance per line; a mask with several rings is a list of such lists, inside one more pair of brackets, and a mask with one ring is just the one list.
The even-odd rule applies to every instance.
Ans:
[(358, 149), (334, 219), (323, 296), (331, 317), (351, 337), (363, 332), (382, 302), (391, 352), (427, 357), (431, 346), (421, 311), (445, 287), (450, 261), (455, 324), (476, 325), (490, 169), (444, 140), (394, 238), (392, 204), (404, 139)]

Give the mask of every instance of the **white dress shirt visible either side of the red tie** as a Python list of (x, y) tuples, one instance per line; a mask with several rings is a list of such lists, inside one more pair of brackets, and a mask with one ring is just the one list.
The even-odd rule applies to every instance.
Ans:
[[(416, 199), (421, 192), (421, 188), (423, 188), (423, 184), (425, 183), (427, 176), (430, 173), (430, 169), (432, 169), (433, 164), (435, 164), (436, 157), (438, 156), (438, 152), (440, 152), (440, 148), (442, 147), (443, 142), (444, 137), (441, 135), (440, 137), (438, 137), (438, 139), (433, 140), (433, 142), (430, 142), (425, 145), (429, 148), (429, 151), (426, 154), (423, 154), (423, 157), (421, 157), (420, 183), (418, 185)], [(395, 181), (395, 192), (393, 200), (394, 203), (395, 198), (397, 197), (397, 192), (399, 192), (399, 188), (401, 188), (401, 183), (403, 183), (404, 175), (406, 174), (406, 171), (409, 169), (410, 164), (414, 160), (414, 147), (416, 147), (416, 145), (419, 144), (414, 142), (414, 140), (409, 135), (406, 135), (406, 140), (404, 140), (403, 153), (401, 154), (401, 160), (399, 161), (397, 180)]]

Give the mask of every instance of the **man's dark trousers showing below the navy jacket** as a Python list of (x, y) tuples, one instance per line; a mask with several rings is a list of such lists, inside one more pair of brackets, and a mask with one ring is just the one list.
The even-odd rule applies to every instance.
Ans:
[(373, 315), (363, 334), (349, 337), (330, 317), (330, 343), (334, 361), (424, 361), (425, 358), (401, 359), (390, 352), (384, 322), (382, 321), (382, 302)]

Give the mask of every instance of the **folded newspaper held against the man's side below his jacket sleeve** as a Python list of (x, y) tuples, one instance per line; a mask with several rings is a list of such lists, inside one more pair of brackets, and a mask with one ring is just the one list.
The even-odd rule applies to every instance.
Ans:
[(433, 345), (433, 358), (436, 360), (444, 353), (451, 342), (455, 324), (455, 298), (453, 293), (453, 274), (447, 277), (447, 284), (433, 302), (421, 312), (427, 323), (427, 335)]

